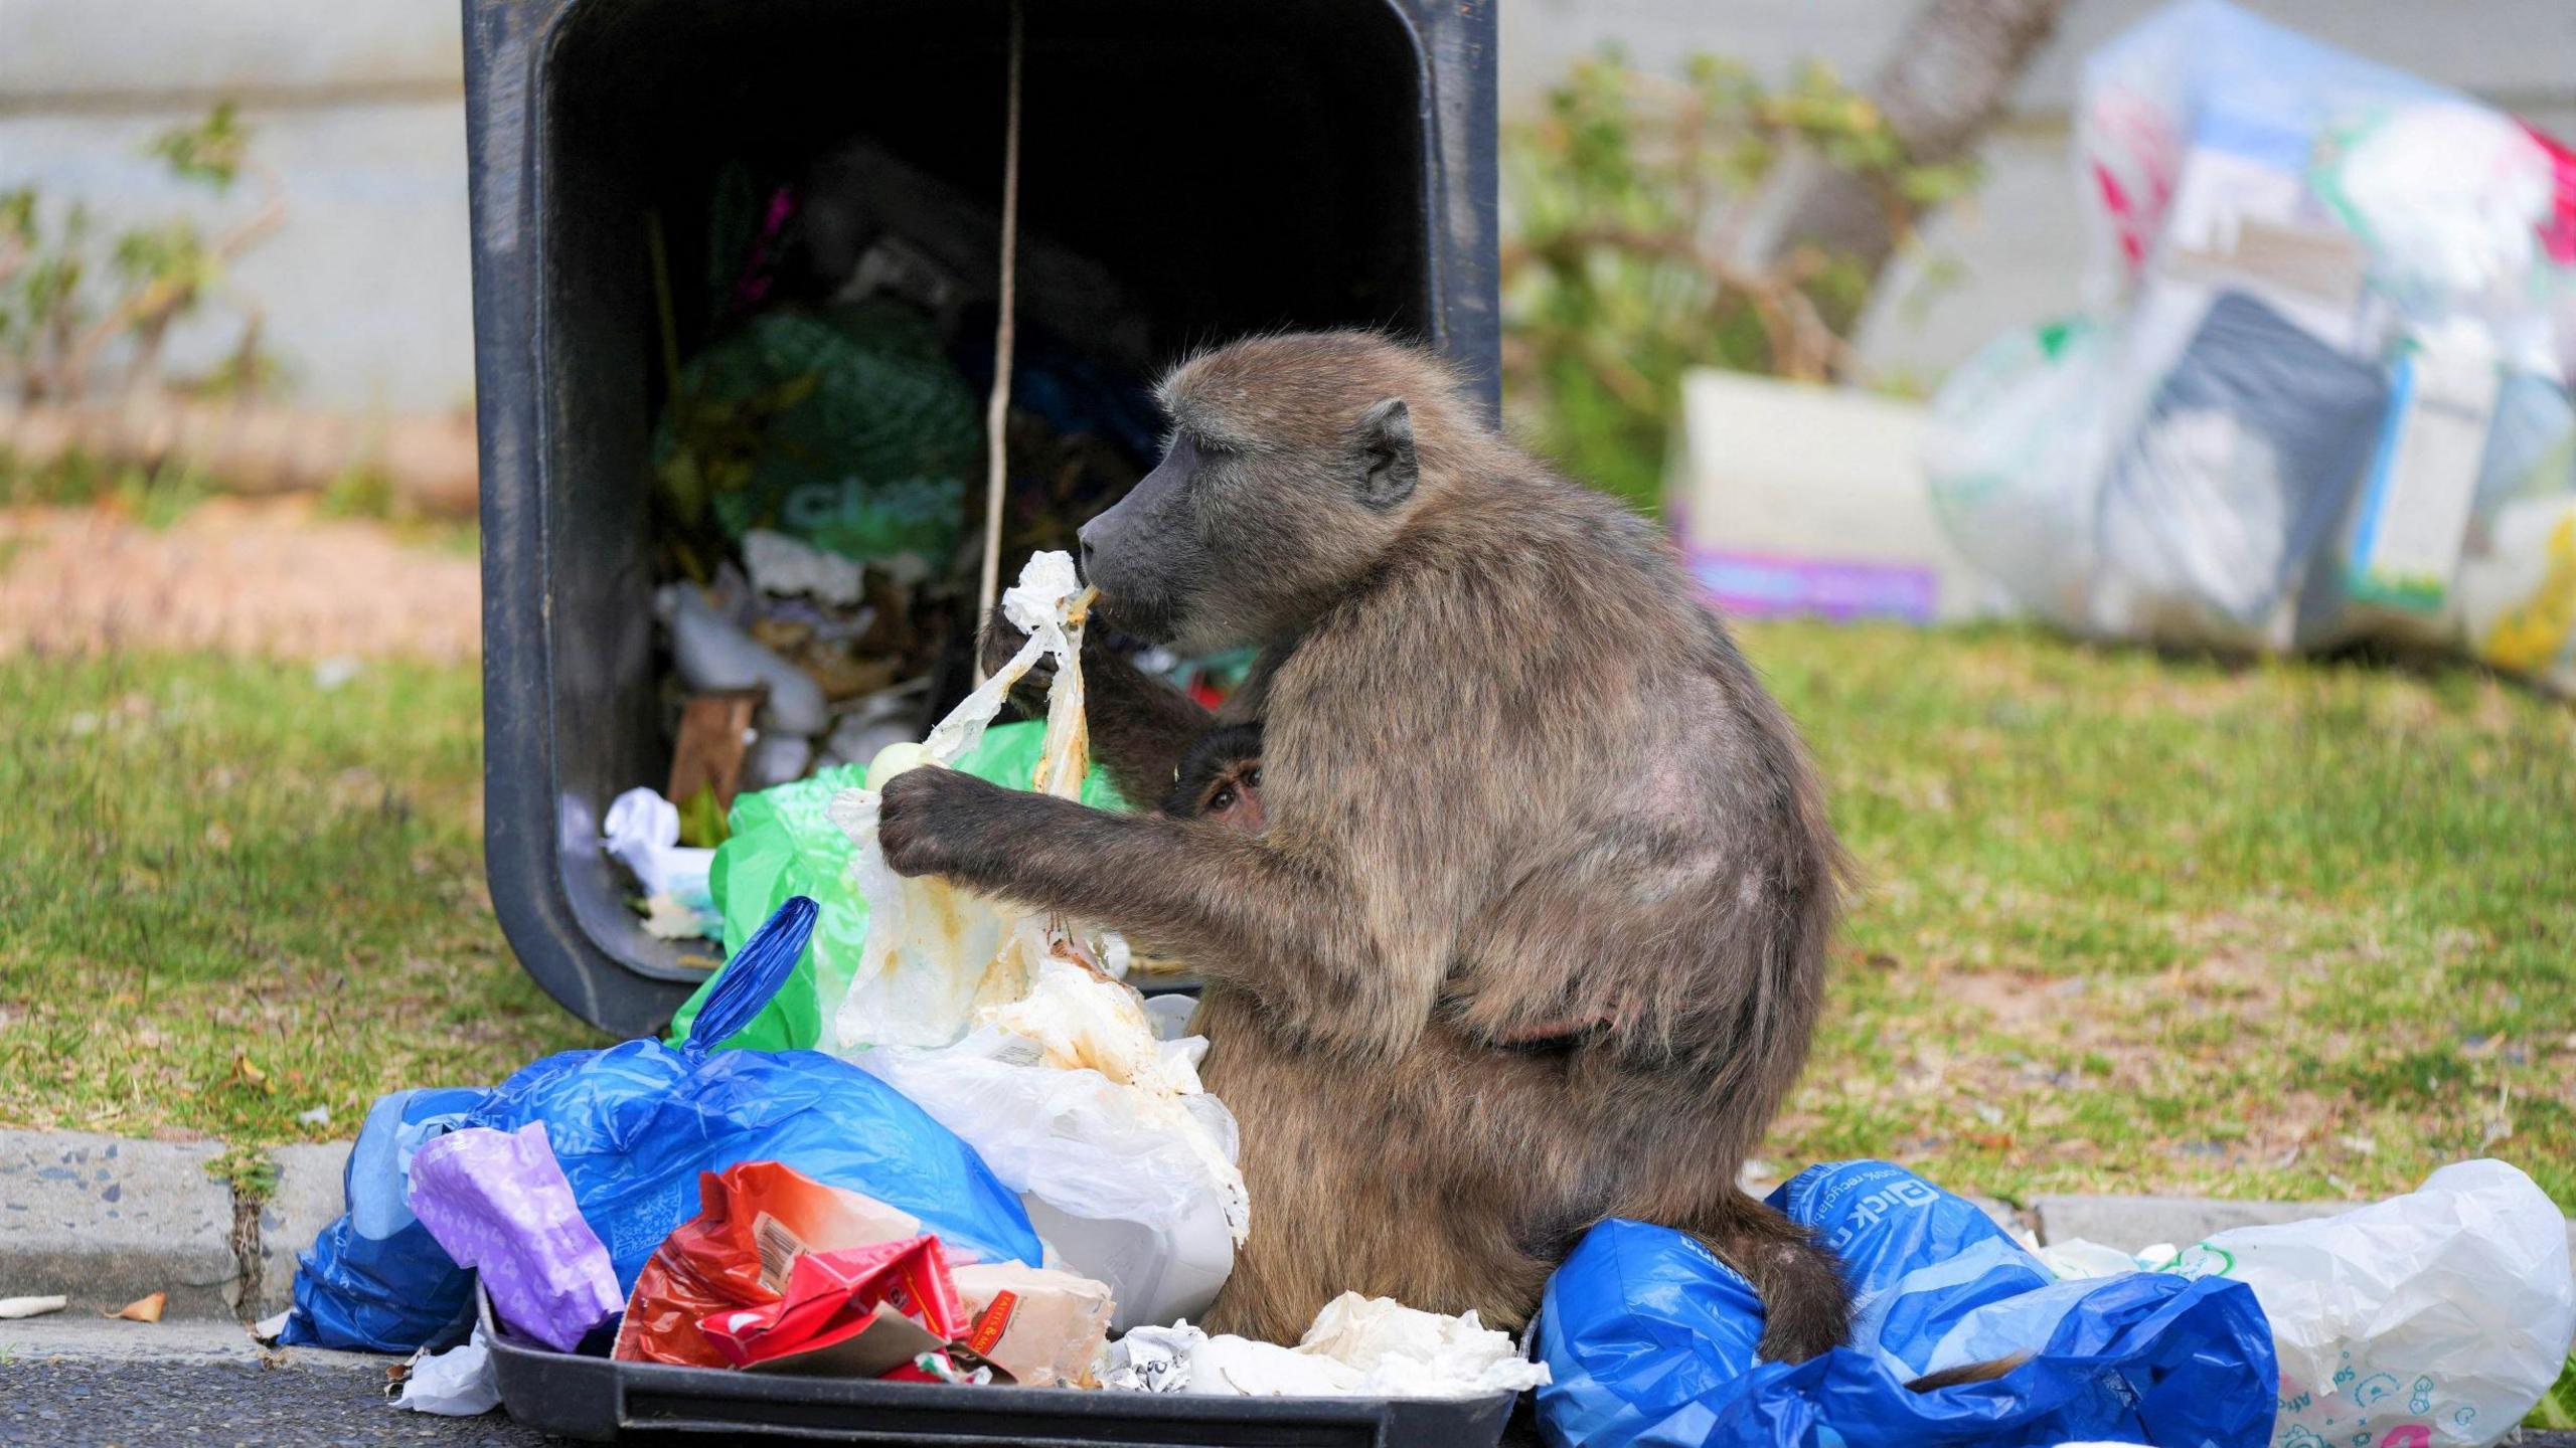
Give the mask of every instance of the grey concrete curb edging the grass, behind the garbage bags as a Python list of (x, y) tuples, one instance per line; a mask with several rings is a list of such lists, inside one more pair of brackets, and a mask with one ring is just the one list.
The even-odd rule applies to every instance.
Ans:
[[(348, 1152), (348, 1141), (270, 1149), (276, 1188), (258, 1214), (242, 1214), (232, 1188), (206, 1172), (222, 1147), (0, 1131), (0, 1296), (64, 1293), (70, 1317), (116, 1311), (155, 1291), (170, 1293), (173, 1319), (255, 1322), (283, 1311), (294, 1304), (296, 1252), (340, 1216)], [(2354, 1206), (2187, 1196), (2043, 1196), (2025, 1208), (1971, 1201), (2043, 1244), (2081, 1237), (2120, 1250), (2187, 1247), (2231, 1226), (2308, 1221)], [(2568, 1239), (2576, 1247), (2576, 1226)], [(0, 1332), (10, 1327), (0, 1322)]]

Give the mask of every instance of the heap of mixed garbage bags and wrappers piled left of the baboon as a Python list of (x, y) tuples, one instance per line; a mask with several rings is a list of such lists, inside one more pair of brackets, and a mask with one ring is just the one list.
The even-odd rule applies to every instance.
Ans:
[[(567, 1051), (492, 1090), (379, 1103), (350, 1154), (350, 1214), (301, 1255), (273, 1337), (448, 1348), (479, 1286), (507, 1342), (631, 1363), (1242, 1396), (1543, 1381), (1473, 1317), (1388, 1299), (1329, 1304), (1293, 1348), (1188, 1324), (1249, 1229), (1234, 1118), (1195, 1072), (1206, 1041), (1118, 982), (1113, 933), (902, 879), (878, 855), (876, 791), (907, 768), (984, 757), (1030, 788), (1092, 788), (1090, 590), (1069, 557), (1041, 554), (1002, 608), (1028, 647), (925, 742), (840, 781), (822, 806), (837, 850), (768, 858), (739, 881), (721, 858), (685, 861), (742, 899), (809, 871), (855, 884), (853, 948), (829, 971), (809, 964), (824, 912), (788, 894), (675, 1043)], [(1043, 729), (987, 750), (1041, 662)], [(811, 824), (801, 804), (768, 848), (811, 845), (793, 837)], [(806, 1000), (778, 1015), (786, 989)], [(739, 1046), (817, 1028), (829, 1051)], [(415, 1366), (407, 1402), (492, 1407), (489, 1353), (474, 1327)]]

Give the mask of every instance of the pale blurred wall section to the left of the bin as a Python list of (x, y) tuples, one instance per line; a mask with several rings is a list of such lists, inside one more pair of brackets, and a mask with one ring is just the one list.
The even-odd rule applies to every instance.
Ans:
[[(446, 0), (0, 0), (0, 188), (39, 183), (118, 224), (209, 206), (144, 142), (237, 98), (286, 183), (286, 227), (232, 291), (265, 312), (294, 394), (443, 410), (474, 394), (461, 26)], [(175, 371), (240, 338), (237, 312), (175, 338)]]

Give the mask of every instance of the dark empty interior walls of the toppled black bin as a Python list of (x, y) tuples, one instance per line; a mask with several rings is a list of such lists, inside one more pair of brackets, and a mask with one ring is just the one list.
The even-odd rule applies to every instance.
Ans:
[[(1007, 15), (984, 0), (587, 0), (541, 59), (556, 853), (582, 928), (644, 974), (693, 979), (714, 956), (636, 928), (595, 827), (618, 791), (662, 786), (672, 747), (647, 216), (667, 276), (701, 278), (729, 162), (791, 178), (860, 137), (994, 206), (1005, 59)], [(1252, 330), (1430, 338), (1427, 157), (1422, 57), (1386, 0), (1028, 5), (1020, 234), (1115, 276), (1146, 368)], [(1020, 286), (1025, 317), (1046, 299)], [(721, 325), (703, 286), (670, 307), (680, 356)]]

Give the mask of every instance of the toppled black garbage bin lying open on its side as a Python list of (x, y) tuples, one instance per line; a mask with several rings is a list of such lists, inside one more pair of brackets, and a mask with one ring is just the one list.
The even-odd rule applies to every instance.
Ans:
[[(546, 992), (641, 1033), (708, 956), (647, 935), (598, 850), (608, 801), (670, 763), (649, 232), (701, 234), (726, 162), (791, 170), (850, 142), (989, 204), (1007, 13), (464, 0), (464, 18), (492, 904)], [(1492, 0), (1033, 0), (1023, 116), (1023, 237), (1105, 265), (1154, 358), (1391, 327), (1492, 405)], [(1023, 312), (1046, 301), (1030, 286)]]

